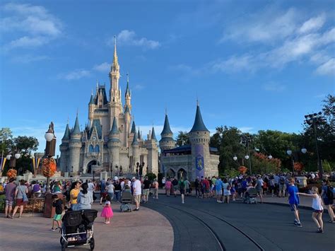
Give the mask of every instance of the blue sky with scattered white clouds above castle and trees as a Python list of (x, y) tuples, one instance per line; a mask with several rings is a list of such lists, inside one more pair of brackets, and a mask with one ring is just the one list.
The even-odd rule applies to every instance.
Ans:
[[(335, 93), (334, 1), (1, 1), (0, 128), (35, 136), (88, 122), (96, 82), (110, 89), (113, 36), (143, 135), (206, 127), (301, 132)], [(124, 103), (124, 101), (123, 101)], [(59, 153), (59, 151), (58, 151)]]

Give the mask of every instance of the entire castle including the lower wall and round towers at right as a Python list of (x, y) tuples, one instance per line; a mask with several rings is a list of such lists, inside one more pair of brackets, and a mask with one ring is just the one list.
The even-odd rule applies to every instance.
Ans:
[(158, 144), (155, 129), (152, 128), (147, 139), (136, 132), (131, 117), (131, 91), (129, 78), (122, 105), (119, 88), (119, 62), (116, 42), (110, 69), (110, 93), (107, 100), (105, 85), (97, 83), (95, 95), (91, 93), (88, 103), (89, 123), (81, 131), (78, 114), (74, 127), (69, 123), (61, 145), (59, 167), (62, 172), (74, 174), (93, 173), (107, 170), (112, 175), (163, 173), (167, 177), (196, 177), (218, 175), (219, 156), (216, 148), (209, 147), (210, 133), (206, 128), (199, 105), (196, 106), (194, 125), (189, 132), (189, 145), (176, 148), (176, 141), (167, 115), (163, 132), (160, 134), (160, 170), (158, 171)]

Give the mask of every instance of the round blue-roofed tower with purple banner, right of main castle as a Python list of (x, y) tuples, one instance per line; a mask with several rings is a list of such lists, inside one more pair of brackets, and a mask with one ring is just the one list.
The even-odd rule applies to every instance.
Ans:
[(200, 108), (197, 104), (194, 124), (191, 131), (189, 131), (189, 141), (192, 147), (192, 165), (195, 168), (195, 172), (192, 172), (192, 175), (194, 175), (194, 177), (191, 177), (192, 180), (195, 180), (196, 177), (201, 178), (212, 174), (209, 139), (209, 131), (202, 120)]

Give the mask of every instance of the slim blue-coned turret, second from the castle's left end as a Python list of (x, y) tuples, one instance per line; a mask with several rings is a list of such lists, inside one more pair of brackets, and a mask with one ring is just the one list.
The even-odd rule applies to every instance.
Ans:
[(69, 170), (78, 173), (79, 172), (79, 160), (81, 155), (81, 129), (79, 128), (78, 114), (74, 129), (71, 132), (71, 139), (69, 142)]

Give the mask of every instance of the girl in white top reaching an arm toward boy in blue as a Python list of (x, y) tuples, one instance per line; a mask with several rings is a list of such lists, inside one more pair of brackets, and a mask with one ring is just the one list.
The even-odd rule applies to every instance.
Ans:
[(322, 199), (319, 195), (317, 187), (312, 187), (312, 194), (304, 194), (298, 192), (298, 194), (306, 197), (312, 197), (312, 219), (317, 224), (317, 233), (324, 233), (324, 223), (322, 221), (322, 213), (324, 208), (322, 206)]

